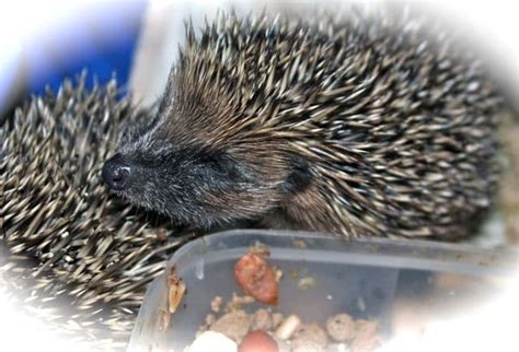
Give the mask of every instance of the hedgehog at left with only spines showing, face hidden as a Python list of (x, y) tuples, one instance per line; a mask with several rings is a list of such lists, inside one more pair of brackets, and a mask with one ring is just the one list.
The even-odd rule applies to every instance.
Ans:
[(147, 284), (194, 235), (106, 195), (120, 125), (148, 113), (114, 80), (66, 80), (0, 126), (0, 290), (93, 350), (126, 347)]

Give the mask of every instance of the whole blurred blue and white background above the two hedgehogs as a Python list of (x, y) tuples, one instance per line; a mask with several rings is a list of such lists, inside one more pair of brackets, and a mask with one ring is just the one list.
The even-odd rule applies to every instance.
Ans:
[[(388, 1), (361, 1), (384, 5)], [(519, 95), (519, 33), (511, 1), (411, 1), (437, 12), (457, 30), (466, 32), (495, 64), (496, 77), (516, 101)], [(346, 3), (347, 5), (348, 3)], [(55, 0), (0, 3), (0, 115), (10, 114), (27, 94), (56, 90), (65, 77), (82, 70), (89, 84), (116, 74), (136, 98), (150, 103), (165, 84), (182, 42), (184, 20), (195, 25), (217, 9), (238, 12), (345, 5), (337, 1), (173, 1), (173, 0)]]

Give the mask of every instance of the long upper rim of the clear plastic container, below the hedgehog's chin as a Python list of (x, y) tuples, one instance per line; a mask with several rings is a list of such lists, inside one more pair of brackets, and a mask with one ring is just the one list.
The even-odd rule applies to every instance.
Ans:
[[(194, 253), (203, 254), (207, 249), (222, 249), (220, 244), (242, 243), (244, 236), (258, 236), (277, 240), (285, 248), (297, 248), (295, 240), (302, 239), (310, 245), (300, 250), (321, 250), (321, 251), (344, 251), (350, 256), (367, 256), (369, 258), (380, 258), (378, 265), (393, 261), (392, 267), (399, 268), (424, 268), (431, 266), (430, 270), (441, 270), (449, 266), (455, 271), (455, 268), (466, 269), (469, 271), (480, 271), (484, 273), (504, 273), (510, 274), (512, 270), (519, 269), (519, 251), (511, 248), (481, 248), (470, 244), (440, 243), (424, 239), (405, 238), (383, 238), (383, 237), (362, 237), (345, 239), (336, 235), (308, 231), (277, 231), (277, 230), (254, 230), (237, 228), (222, 232), (215, 232), (194, 240), (191, 240), (180, 247), (171, 257), (169, 262), (181, 261), (186, 256)], [(237, 238), (237, 240), (233, 240)], [(323, 244), (325, 245), (323, 247)], [(267, 244), (269, 245), (269, 244)], [(316, 245), (319, 248), (312, 248)], [(229, 247), (227, 247), (229, 248)], [(226, 248), (226, 249), (227, 249)], [(396, 260), (394, 260), (396, 259)], [(420, 263), (415, 267), (416, 263)], [(436, 265), (436, 266), (435, 266)]]

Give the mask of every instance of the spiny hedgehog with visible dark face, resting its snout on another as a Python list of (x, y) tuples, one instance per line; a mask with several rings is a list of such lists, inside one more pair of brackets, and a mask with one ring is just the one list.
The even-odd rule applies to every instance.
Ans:
[(181, 222), (454, 239), (498, 180), (482, 64), (404, 16), (220, 14), (103, 178)]

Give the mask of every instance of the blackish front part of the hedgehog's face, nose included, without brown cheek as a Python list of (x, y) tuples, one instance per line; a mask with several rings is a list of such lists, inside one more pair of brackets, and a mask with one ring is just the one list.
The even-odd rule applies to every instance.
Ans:
[(224, 220), (237, 195), (258, 187), (252, 175), (223, 152), (165, 139), (153, 139), (145, 146), (149, 138), (146, 134), (125, 145), (103, 167), (108, 187), (137, 206), (182, 223), (210, 225)]

